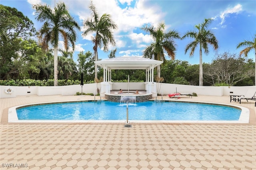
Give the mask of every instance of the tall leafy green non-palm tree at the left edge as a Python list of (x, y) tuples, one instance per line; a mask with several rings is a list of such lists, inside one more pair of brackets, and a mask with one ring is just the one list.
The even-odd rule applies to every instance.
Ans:
[(16, 8), (2, 5), (0, 8), (0, 78), (15, 79), (20, 74), (19, 62), (24, 57), (21, 54), (24, 54), (26, 41), (30, 41), (36, 29)]

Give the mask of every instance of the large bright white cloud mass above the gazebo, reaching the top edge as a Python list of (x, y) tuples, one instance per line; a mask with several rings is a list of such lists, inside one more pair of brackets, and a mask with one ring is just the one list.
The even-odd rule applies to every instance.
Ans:
[[(87, 18), (91, 17), (91, 11), (88, 8), (90, 6), (89, 0), (76, 0), (65, 1), (70, 13), (78, 15), (80, 22), (82, 23)], [(152, 4), (148, 4), (147, 0), (137, 0), (134, 6), (130, 6), (131, 0), (121, 0), (121, 4), (127, 3), (126, 8), (122, 9), (118, 6), (116, 0), (93, 0), (92, 3), (96, 7), (99, 16), (102, 14), (110, 14), (112, 20), (118, 25), (118, 29), (114, 30), (114, 37), (116, 40), (116, 46), (109, 45), (109, 50), (114, 48), (126, 47), (129, 39), (136, 43), (137, 47), (144, 47), (140, 43), (150, 43), (152, 38), (150, 35), (143, 35), (142, 33), (133, 33), (135, 29), (140, 29), (144, 24), (156, 25), (159, 21), (162, 21), (165, 13), (162, 12), (160, 7)], [(169, 25), (168, 25), (169, 26)], [(84, 28), (81, 32), (84, 32)], [(92, 40), (94, 33), (90, 33), (87, 36), (82, 36), (83, 39), (88, 41)], [(128, 39), (127, 39), (128, 38)], [(126, 39), (124, 41), (124, 39)], [(122, 52), (123, 53), (123, 52)], [(126, 52), (128, 55), (129, 51)]]

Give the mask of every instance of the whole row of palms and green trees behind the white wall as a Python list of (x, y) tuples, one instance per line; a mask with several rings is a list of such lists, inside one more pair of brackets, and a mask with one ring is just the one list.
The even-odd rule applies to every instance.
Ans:
[[(73, 60), (73, 53), (68, 52), (71, 45), (77, 39), (76, 29), (79, 25), (74, 21), (64, 3), (59, 3), (54, 9), (47, 5), (33, 6), (36, 10), (36, 19), (44, 22), (42, 28), (36, 32), (32, 21), (15, 8), (0, 6), (0, 79), (34, 79), (48, 80), (54, 78), (54, 85), (58, 85), (58, 79), (78, 80), (80, 73), (84, 73), (84, 79), (97, 80), (103, 75), (102, 68), (97, 68), (94, 61), (98, 60), (98, 47), (108, 51), (108, 45), (115, 45), (113, 29), (117, 25), (111, 20), (111, 16), (103, 14), (101, 17), (93, 4), (89, 8), (92, 17), (84, 21), (84, 35), (94, 32), (95, 37), (93, 53), (80, 52), (77, 63)], [(65, 18), (64, 18), (65, 17)], [(64, 20), (65, 19), (65, 20)], [(158, 82), (190, 84), (205, 86), (229, 85), (250, 86), (255, 82), (255, 62), (246, 56), (252, 49), (256, 49), (256, 36), (253, 41), (244, 41), (238, 44), (238, 48), (245, 46), (239, 55), (228, 52), (217, 54), (210, 64), (202, 63), (202, 50), (208, 54), (208, 45), (218, 49), (218, 41), (212, 31), (207, 29), (211, 19), (196, 25), (197, 31), (187, 31), (185, 35), (171, 30), (164, 32), (164, 23), (158, 27), (144, 25), (141, 29), (150, 33), (152, 42), (144, 51), (144, 57), (162, 60), (164, 63), (156, 71), (155, 80)], [(105, 25), (105, 26), (104, 26)], [(58, 29), (57, 29), (58, 28)], [(68, 31), (67, 31), (68, 30)], [(53, 36), (54, 35), (54, 36)], [(38, 37), (39, 41), (35, 41)], [(58, 49), (58, 41), (64, 39), (65, 50)], [(174, 39), (192, 38), (193, 41), (186, 46), (185, 53), (200, 47), (200, 64), (191, 65), (187, 61), (175, 60), (176, 43)], [(49, 46), (50, 45), (50, 46)], [(54, 47), (54, 48), (50, 48)], [(62, 56), (57, 52), (61, 51)], [(109, 58), (115, 57), (115, 50), (110, 51)], [(164, 52), (171, 58), (167, 60)], [(244, 56), (242, 56), (244, 55)], [(161, 76), (158, 74), (161, 69)], [(145, 81), (144, 70), (112, 70), (113, 80)], [(202, 78), (204, 75), (204, 78)], [(198, 79), (199, 78), (199, 79)]]

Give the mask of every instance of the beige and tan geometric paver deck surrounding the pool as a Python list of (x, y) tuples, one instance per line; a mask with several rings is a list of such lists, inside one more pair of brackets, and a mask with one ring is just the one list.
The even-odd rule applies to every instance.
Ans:
[[(231, 103), (250, 109), (248, 124), (7, 122), (12, 106), (86, 99), (94, 96), (0, 99), (0, 169), (256, 170), (254, 101)], [(178, 100), (230, 104), (229, 96)]]

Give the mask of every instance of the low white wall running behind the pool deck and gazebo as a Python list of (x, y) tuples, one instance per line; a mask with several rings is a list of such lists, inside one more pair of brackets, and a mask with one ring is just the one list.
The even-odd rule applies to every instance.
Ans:
[[(197, 95), (206, 96), (226, 96), (226, 95), (244, 95), (247, 90), (252, 89), (256, 91), (256, 86), (189, 86), (181, 84), (166, 84), (166, 83), (156, 83), (157, 92), (159, 94), (170, 94), (176, 92), (180, 93), (196, 93)], [(100, 89), (100, 83), (98, 83), (98, 88)], [(6, 94), (5, 89), (12, 88), (12, 94)], [(112, 90), (124, 89), (128, 90), (128, 83), (113, 83)], [(144, 82), (129, 83), (129, 90), (145, 90)], [(76, 92), (82, 92), (82, 86), (71, 85), (71, 86), (0, 86), (0, 98), (15, 98), (16, 96), (46, 96), (46, 95), (62, 95), (71, 96), (75, 95)], [(84, 84), (84, 93), (97, 94), (97, 85)]]

